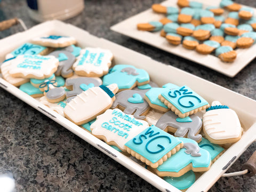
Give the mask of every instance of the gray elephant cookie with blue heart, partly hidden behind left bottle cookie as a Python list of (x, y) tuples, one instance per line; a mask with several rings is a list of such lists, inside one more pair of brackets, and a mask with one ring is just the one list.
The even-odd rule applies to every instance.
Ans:
[(82, 93), (83, 91), (86, 91), (90, 87), (94, 86), (100, 86), (101, 83), (91, 77), (79, 77), (79, 78), (74, 78), (74, 79), (67, 79), (66, 80), (66, 87), (69, 90), (67, 92), (67, 102), (69, 102), (71, 99), (75, 98), (76, 95)]

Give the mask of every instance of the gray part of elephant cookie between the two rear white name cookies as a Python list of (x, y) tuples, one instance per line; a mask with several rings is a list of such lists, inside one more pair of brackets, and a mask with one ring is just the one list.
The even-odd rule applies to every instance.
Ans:
[(59, 66), (58, 66), (57, 71), (55, 72), (55, 75), (56, 76), (61, 75), (63, 77), (67, 77), (70, 73), (73, 73), (72, 66), (76, 60), (76, 57), (69, 51), (63, 51), (63, 50), (53, 51), (49, 55), (53, 55), (56, 58), (59, 58), (60, 53), (65, 54), (68, 59), (59, 62)]

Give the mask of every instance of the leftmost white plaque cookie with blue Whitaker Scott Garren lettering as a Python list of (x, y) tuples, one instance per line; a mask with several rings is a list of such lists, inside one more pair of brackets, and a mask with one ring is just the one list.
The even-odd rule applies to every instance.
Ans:
[(54, 56), (19, 55), (10, 60), (9, 74), (12, 77), (44, 79), (58, 68), (59, 60)]

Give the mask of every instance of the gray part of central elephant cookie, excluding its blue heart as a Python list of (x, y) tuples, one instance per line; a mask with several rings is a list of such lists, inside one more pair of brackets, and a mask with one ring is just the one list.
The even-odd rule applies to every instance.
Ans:
[(141, 98), (144, 98), (145, 93), (141, 91), (135, 90), (125, 90), (117, 93), (115, 95), (116, 100), (113, 102), (111, 108), (116, 108), (118, 105), (124, 107), (124, 113), (128, 115), (132, 115), (137, 119), (144, 119), (146, 116), (141, 116), (146, 110), (149, 109), (149, 105), (145, 99), (143, 99), (142, 103), (131, 103), (128, 101), (129, 98), (133, 97), (133, 94), (140, 94)]

